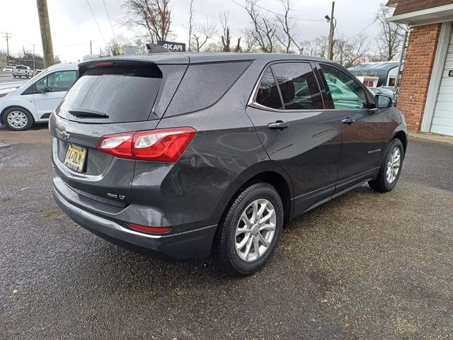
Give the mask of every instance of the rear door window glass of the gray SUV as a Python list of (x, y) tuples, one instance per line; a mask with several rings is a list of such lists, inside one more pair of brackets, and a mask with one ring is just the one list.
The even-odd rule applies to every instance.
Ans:
[(272, 72), (280, 86), (285, 110), (314, 110), (323, 108), (318, 82), (306, 62), (274, 64)]

